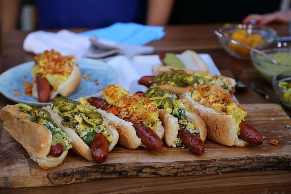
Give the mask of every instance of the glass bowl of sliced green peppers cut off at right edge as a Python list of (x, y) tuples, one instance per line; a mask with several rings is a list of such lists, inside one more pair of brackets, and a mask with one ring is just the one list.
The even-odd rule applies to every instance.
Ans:
[(291, 71), (276, 75), (273, 78), (273, 88), (280, 102), (291, 109)]

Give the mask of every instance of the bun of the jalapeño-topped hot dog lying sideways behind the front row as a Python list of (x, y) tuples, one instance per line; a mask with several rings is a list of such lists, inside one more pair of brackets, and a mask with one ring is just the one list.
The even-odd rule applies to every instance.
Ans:
[[(190, 70), (190, 69), (184, 69), (184, 68), (175, 68), (175, 67), (161, 66), (161, 67), (158, 68), (156, 75), (158, 75), (158, 74), (160, 74), (162, 72), (170, 73), (171, 72), (171, 69), (174, 69), (174, 70), (184, 70), (186, 73), (189, 73), (189, 74), (192, 74), (192, 73), (203, 74), (203, 73), (205, 73), (204, 71), (196, 71), (196, 70)], [(212, 77), (215, 76), (213, 74), (210, 74), (210, 75)], [(225, 76), (221, 76), (221, 77), (224, 77), (231, 85), (233, 85), (233, 86), (236, 85), (236, 81), (233, 78), (225, 77)], [(169, 91), (171, 91), (171, 92), (173, 92), (175, 94), (179, 94), (179, 95), (180, 94), (183, 94), (183, 93), (187, 92), (188, 90), (194, 88), (194, 86), (177, 87), (177, 86), (171, 86), (169, 84), (155, 85), (155, 86), (151, 86), (150, 88), (153, 88), (153, 87), (160, 87), (163, 90), (169, 90)], [(219, 90), (222, 90), (222, 92), (224, 94), (226, 94), (226, 95), (232, 95), (232, 94), (230, 94), (229, 90), (226, 90), (226, 89), (224, 89), (221, 86), (217, 86), (217, 88)]]

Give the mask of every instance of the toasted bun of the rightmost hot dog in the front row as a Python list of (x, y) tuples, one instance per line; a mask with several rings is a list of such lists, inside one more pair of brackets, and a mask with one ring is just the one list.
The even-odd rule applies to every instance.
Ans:
[(246, 141), (239, 139), (236, 135), (236, 125), (231, 115), (215, 112), (214, 109), (204, 107), (195, 102), (189, 95), (189, 92), (182, 94), (179, 98), (188, 99), (190, 108), (202, 118), (207, 127), (207, 138), (226, 146), (245, 147)]

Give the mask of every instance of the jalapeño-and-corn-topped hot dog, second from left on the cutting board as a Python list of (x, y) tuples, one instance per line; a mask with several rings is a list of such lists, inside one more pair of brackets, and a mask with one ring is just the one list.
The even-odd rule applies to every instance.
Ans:
[(116, 128), (83, 97), (79, 102), (60, 97), (44, 109), (55, 113), (52, 118), (71, 137), (72, 151), (89, 161), (103, 163), (118, 141)]

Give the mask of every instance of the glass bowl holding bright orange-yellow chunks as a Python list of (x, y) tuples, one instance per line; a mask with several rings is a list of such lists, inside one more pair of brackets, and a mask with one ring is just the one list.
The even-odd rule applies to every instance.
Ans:
[[(272, 28), (253, 24), (226, 24), (219, 28), (219, 31), (225, 36), (250, 47), (271, 43), (277, 36), (277, 32)], [(224, 50), (234, 58), (250, 59), (249, 49), (231, 43), (219, 36), (218, 40)]]

